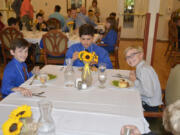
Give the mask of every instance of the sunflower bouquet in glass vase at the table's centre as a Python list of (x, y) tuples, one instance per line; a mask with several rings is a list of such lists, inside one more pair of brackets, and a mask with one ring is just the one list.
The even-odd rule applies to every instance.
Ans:
[(84, 69), (82, 72), (82, 81), (84, 81), (87, 86), (90, 86), (92, 84), (92, 76), (91, 76), (91, 70), (90, 70), (90, 64), (95, 62), (98, 63), (98, 56), (95, 52), (87, 52), (87, 51), (81, 51), (79, 52), (79, 60), (84, 62)]

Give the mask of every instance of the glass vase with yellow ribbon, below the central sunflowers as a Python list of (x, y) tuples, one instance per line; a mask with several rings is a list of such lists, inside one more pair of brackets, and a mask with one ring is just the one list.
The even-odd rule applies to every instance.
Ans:
[(82, 71), (82, 82), (87, 84), (87, 87), (92, 85), (92, 73), (89, 67), (89, 63), (85, 63), (83, 71)]

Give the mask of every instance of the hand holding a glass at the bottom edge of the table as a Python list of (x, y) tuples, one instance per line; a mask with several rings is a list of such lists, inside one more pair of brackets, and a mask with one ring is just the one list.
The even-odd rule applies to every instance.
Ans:
[(130, 135), (141, 135), (139, 129), (134, 125), (125, 125), (121, 128), (121, 135), (125, 135), (126, 129), (130, 130)]

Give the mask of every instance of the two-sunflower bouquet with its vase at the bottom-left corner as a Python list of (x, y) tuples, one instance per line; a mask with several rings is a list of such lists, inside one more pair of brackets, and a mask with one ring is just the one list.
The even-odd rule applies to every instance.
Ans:
[[(31, 124), (28, 124), (31, 123)], [(2, 125), (3, 135), (33, 134), (37, 130), (37, 124), (32, 122), (32, 111), (28, 105), (22, 105), (14, 109), (9, 119)]]

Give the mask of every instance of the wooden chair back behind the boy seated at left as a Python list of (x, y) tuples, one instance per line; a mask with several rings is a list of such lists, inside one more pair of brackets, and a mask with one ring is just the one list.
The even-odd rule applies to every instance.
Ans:
[(2, 42), (2, 54), (4, 58), (4, 64), (7, 64), (7, 59), (11, 59), (10, 55), (10, 43), (16, 38), (23, 38), (20, 31), (13, 27), (7, 27), (3, 29), (0, 33), (0, 40)]

